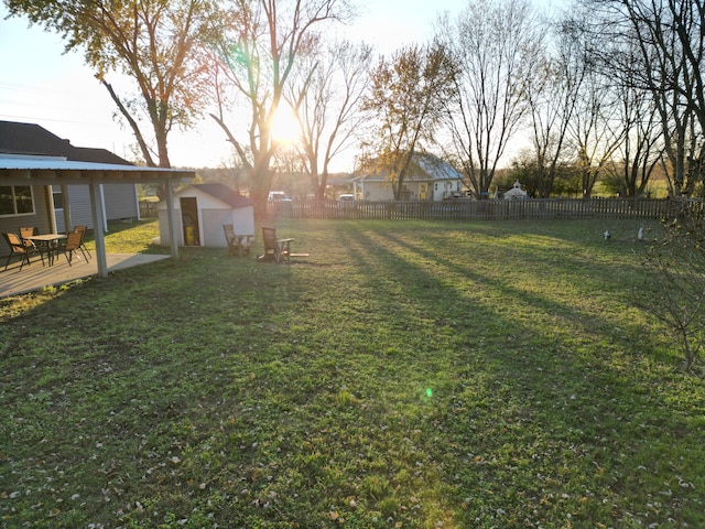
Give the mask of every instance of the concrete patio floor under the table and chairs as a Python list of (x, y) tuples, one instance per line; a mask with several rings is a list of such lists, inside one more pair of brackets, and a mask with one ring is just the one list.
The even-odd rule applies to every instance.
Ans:
[[(169, 259), (171, 256), (158, 256), (149, 253), (108, 253), (106, 256), (108, 263), (108, 272), (113, 272), (123, 268), (137, 267), (150, 262)], [(48, 285), (58, 285), (82, 278), (98, 274), (98, 264), (95, 256), (86, 262), (80, 259), (72, 260), (69, 267), (64, 256), (57, 256), (53, 266), (42, 266), (39, 257), (32, 258), (30, 266), (22, 267), (20, 270), (20, 260), (15, 257), (10, 262), (8, 269), (4, 269), (3, 257), (0, 260), (0, 298), (33, 292)]]

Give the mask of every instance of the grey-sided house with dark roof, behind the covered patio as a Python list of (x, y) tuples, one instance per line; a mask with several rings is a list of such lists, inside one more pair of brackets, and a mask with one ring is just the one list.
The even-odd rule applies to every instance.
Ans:
[[(132, 165), (127, 160), (105, 149), (74, 147), (48, 130), (33, 123), (0, 121), (0, 156), (46, 156), (73, 162), (107, 163), (112, 165)], [(90, 197), (87, 185), (67, 185), (68, 203), (70, 203), (69, 229), (76, 225), (85, 225), (93, 229)], [(101, 188), (102, 190), (102, 188)], [(51, 195), (51, 196), (50, 196)], [(54, 212), (47, 212), (53, 218), (42, 218), (33, 225), (43, 230), (66, 231), (62, 187), (32, 187), (34, 201), (50, 201)], [(105, 220), (120, 218), (139, 218), (139, 195), (135, 184), (116, 184), (101, 191)], [(2, 212), (0, 212), (0, 216)], [(25, 223), (29, 219), (24, 219)]]

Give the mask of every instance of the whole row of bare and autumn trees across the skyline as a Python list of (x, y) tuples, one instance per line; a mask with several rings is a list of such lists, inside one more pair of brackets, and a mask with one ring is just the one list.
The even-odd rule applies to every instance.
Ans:
[[(704, 2), (575, 0), (549, 15), (530, 0), (468, 0), (438, 14), (427, 43), (376, 57), (327, 37), (354, 20), (354, 0), (4, 0), (84, 53), (147, 165), (171, 166), (175, 127), (215, 120), (258, 213), (279, 169), (323, 199), (350, 149), (360, 169), (390, 175), (395, 197), (413, 154), (434, 152), (481, 198), (521, 134), (513, 165), (534, 196), (564, 188), (566, 166), (585, 197), (600, 181), (643, 194), (657, 173), (692, 196), (705, 156)], [(274, 130), (284, 108), (294, 141)]]

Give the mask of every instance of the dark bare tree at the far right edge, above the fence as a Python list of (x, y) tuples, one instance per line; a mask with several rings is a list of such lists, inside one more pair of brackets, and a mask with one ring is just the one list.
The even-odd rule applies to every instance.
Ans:
[(704, 0), (584, 0), (606, 72), (651, 94), (661, 117), (674, 194), (690, 195), (705, 158)]

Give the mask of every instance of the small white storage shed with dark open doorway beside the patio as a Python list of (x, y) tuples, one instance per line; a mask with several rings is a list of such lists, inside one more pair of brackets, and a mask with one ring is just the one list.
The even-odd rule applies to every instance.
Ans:
[[(159, 204), (160, 244), (170, 245), (166, 203)], [(227, 248), (224, 224), (238, 235), (254, 236), (252, 201), (224, 184), (194, 184), (174, 193), (178, 246)]]

